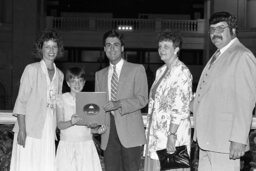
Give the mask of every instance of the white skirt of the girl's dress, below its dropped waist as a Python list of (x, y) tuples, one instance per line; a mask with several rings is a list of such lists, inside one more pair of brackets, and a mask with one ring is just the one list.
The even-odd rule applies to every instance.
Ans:
[(57, 171), (102, 171), (93, 140), (60, 140), (56, 155)]

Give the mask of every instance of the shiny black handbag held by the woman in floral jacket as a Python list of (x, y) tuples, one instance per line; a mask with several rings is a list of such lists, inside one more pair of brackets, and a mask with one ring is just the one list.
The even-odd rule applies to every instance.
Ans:
[(176, 151), (172, 154), (167, 153), (166, 149), (158, 150), (156, 153), (160, 162), (160, 170), (190, 167), (190, 159), (185, 145), (176, 147)]

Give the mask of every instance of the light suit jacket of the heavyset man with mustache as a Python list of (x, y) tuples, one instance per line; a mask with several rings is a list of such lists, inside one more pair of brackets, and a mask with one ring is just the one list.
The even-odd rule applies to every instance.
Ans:
[(256, 60), (239, 40), (204, 68), (194, 99), (200, 148), (229, 153), (230, 141), (248, 144), (256, 100)]

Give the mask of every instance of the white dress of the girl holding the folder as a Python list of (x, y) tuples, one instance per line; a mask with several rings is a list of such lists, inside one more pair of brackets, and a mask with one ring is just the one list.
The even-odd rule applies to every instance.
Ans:
[[(64, 109), (64, 119), (70, 120), (76, 110), (72, 95), (63, 94), (58, 105)], [(61, 130), (56, 166), (57, 171), (102, 171), (89, 128), (75, 125)]]

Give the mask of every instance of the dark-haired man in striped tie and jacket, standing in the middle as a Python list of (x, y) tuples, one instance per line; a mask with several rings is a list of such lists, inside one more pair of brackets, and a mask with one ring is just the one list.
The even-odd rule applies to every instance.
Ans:
[(148, 85), (143, 65), (122, 58), (122, 35), (115, 30), (103, 37), (110, 65), (95, 75), (95, 91), (107, 92), (104, 109), (107, 131), (101, 136), (106, 171), (138, 171), (145, 143), (141, 109), (148, 102)]

